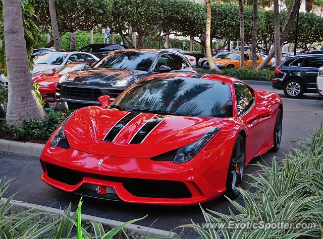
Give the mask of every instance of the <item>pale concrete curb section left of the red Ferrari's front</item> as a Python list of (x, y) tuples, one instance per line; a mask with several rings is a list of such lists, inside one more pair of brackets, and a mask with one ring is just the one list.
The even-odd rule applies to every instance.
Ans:
[(0, 151), (40, 156), (44, 144), (0, 139)]

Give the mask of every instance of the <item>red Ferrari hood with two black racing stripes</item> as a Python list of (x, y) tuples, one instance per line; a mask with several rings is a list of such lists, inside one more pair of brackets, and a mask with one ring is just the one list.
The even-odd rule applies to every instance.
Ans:
[[(125, 120), (128, 123), (120, 124), (127, 122)], [(210, 127), (231, 125), (234, 128), (230, 120), (232, 118), (155, 115), (91, 106), (74, 113), (64, 130), (71, 148), (80, 151), (150, 158), (196, 141)]]

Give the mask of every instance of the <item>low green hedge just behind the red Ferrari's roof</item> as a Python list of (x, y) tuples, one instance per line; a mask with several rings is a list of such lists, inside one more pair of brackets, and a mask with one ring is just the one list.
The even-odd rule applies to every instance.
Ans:
[(199, 73), (224, 74), (238, 79), (249, 79), (251, 81), (271, 81), (275, 72), (271, 69), (253, 70), (252, 68), (225, 68), (221, 72), (214, 72), (209, 69), (198, 70)]

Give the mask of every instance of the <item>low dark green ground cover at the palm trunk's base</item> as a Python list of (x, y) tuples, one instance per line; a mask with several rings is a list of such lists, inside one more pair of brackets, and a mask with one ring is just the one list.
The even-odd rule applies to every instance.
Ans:
[(67, 112), (51, 110), (42, 119), (26, 120), (22, 126), (5, 124), (3, 125), (3, 130), (12, 135), (13, 139), (17, 140), (26, 140), (29, 138), (47, 140), (53, 131), (55, 131), (71, 113), (71, 110)]

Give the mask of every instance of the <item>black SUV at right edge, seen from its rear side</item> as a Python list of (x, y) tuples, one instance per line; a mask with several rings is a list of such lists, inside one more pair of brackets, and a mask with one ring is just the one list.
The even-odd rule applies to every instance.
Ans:
[(323, 55), (308, 54), (287, 57), (276, 69), (272, 86), (284, 90), (289, 98), (300, 98), (304, 93), (317, 93), (316, 77), (323, 65)]

